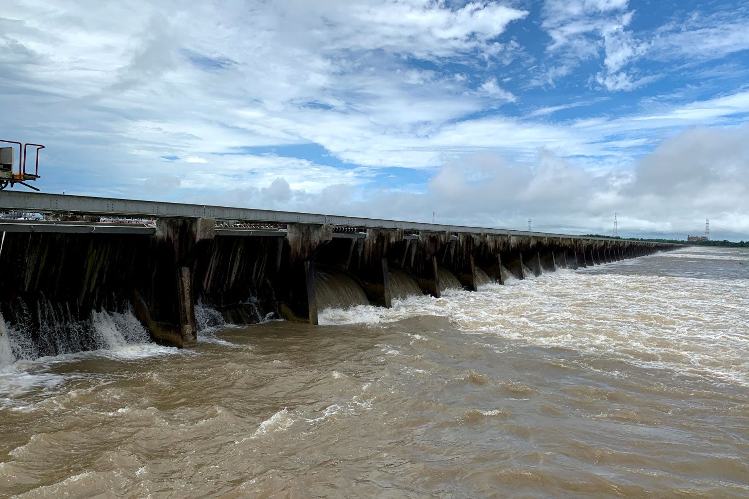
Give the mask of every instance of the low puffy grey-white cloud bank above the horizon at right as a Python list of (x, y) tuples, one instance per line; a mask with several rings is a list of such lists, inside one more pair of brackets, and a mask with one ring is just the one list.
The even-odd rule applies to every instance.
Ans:
[[(698, 127), (664, 140), (631, 168), (592, 170), (539, 149), (533, 161), (510, 162), (483, 151), (446, 162), (426, 192), (371, 192), (347, 183), (317, 194), (286, 189), (228, 192), (264, 207), (333, 215), (478, 224), (558, 233), (610, 233), (619, 214), (624, 236), (697, 233), (704, 219), (749, 233), (749, 126)], [(718, 153), (720, 151), (720, 153)], [(717, 158), (720, 158), (716, 161)], [(225, 199), (222, 198), (222, 199)], [(735, 239), (736, 233), (714, 231)]]

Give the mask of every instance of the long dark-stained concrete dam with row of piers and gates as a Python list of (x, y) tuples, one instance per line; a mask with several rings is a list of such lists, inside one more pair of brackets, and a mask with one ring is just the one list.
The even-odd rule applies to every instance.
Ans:
[[(229, 324), (318, 324), (318, 311), (391, 307), (676, 245), (298, 212), (3, 192), (0, 313), (39, 355), (87, 343), (92, 314), (126, 309), (166, 346), (197, 341), (196, 305)], [(0, 321), (1, 322), (1, 321)], [(2, 331), (0, 330), (0, 334)]]

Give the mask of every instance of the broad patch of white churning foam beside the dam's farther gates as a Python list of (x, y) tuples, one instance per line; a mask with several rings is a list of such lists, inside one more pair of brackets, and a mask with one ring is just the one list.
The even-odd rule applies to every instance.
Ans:
[[(616, 266), (643, 265), (637, 260), (608, 265), (615, 272)], [(487, 284), (476, 293), (411, 296), (390, 309), (325, 310), (321, 319), (378, 325), (443, 316), (468, 333), (749, 385), (748, 287), (747, 280), (703, 276), (550, 272), (508, 286)]]

